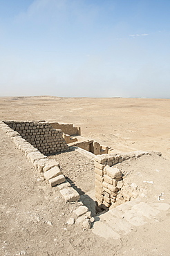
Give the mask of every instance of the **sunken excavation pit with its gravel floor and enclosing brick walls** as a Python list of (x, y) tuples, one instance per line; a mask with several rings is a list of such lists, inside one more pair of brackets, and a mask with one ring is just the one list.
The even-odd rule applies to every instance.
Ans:
[[(120, 170), (116, 170), (116, 165), (122, 161), (148, 154), (147, 152), (117, 155), (97, 154), (97, 156), (90, 152), (82, 154), (80, 152), (81, 150), (85, 152), (84, 149), (68, 147), (63, 138), (62, 130), (53, 128), (48, 122), (3, 122), (10, 127), (7, 128), (8, 132), (17, 131), (18, 135), (15, 133), (12, 136), (20, 135), (39, 152), (48, 158), (55, 158), (59, 162), (62, 173), (79, 193), (80, 201), (91, 210), (92, 216), (95, 216), (95, 209), (97, 212), (109, 210), (109, 208), (115, 208), (117, 205), (129, 201), (131, 197), (134, 196), (135, 198), (138, 195), (138, 193), (131, 193), (133, 191), (130, 189), (126, 190), (123, 174)], [(9, 131), (9, 129), (11, 130)], [(32, 161), (34, 162), (33, 159)]]

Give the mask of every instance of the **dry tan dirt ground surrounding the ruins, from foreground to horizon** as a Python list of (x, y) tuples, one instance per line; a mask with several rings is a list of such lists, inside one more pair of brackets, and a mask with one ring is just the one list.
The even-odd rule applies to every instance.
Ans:
[[(159, 99), (0, 98), (0, 120), (70, 122), (82, 127), (83, 136), (115, 152), (160, 151), (163, 157), (143, 156), (132, 163), (125, 161), (120, 168), (143, 189), (144, 202), (158, 203), (158, 194), (164, 192), (162, 202), (170, 203), (169, 104), (170, 100)], [(1, 255), (170, 255), (169, 210), (120, 239), (105, 239), (80, 226), (68, 226), (73, 205), (64, 203), (59, 190), (46, 184), (1, 130), (0, 150)], [(75, 163), (77, 156), (69, 155), (70, 165), (75, 165), (68, 168), (68, 156), (67, 163), (62, 163), (64, 155), (59, 157), (77, 187), (84, 192), (93, 187), (93, 163), (84, 156)], [(82, 179), (84, 169), (86, 179)]]

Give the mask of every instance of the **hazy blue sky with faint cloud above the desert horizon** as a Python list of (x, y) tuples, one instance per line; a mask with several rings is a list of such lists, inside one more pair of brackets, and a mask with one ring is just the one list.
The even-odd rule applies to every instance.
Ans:
[(169, 0), (0, 0), (0, 96), (170, 98)]

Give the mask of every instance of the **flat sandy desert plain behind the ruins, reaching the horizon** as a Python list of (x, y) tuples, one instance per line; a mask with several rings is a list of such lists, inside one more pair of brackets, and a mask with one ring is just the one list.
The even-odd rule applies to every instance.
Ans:
[(116, 151), (170, 156), (169, 99), (15, 97), (0, 98), (0, 107), (0, 119), (70, 122)]

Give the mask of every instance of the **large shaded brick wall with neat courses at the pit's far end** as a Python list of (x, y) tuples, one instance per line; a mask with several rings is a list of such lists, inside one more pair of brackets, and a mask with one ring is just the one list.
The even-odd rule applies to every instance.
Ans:
[(42, 154), (53, 154), (68, 149), (60, 129), (53, 129), (48, 122), (3, 121)]

